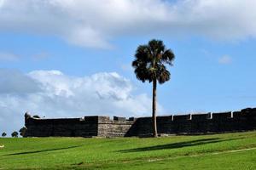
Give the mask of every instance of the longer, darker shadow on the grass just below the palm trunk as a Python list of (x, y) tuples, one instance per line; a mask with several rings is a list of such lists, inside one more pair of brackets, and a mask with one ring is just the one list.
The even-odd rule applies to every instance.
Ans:
[(118, 150), (118, 151), (123, 153), (128, 153), (128, 152), (138, 152), (138, 151), (148, 151), (148, 150), (171, 150), (171, 149), (177, 149), (177, 148), (183, 148), (183, 147), (189, 147), (189, 146), (197, 146), (202, 144), (214, 144), (214, 143), (230, 141), (230, 140), (236, 140), (236, 139), (218, 139), (218, 138), (197, 139), (197, 140), (191, 140), (186, 142), (154, 145), (154, 146), (148, 146), (143, 148), (134, 148), (131, 150)]

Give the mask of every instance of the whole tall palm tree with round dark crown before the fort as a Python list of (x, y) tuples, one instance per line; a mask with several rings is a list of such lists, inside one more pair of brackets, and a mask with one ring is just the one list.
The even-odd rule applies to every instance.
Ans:
[(160, 40), (151, 40), (148, 44), (139, 45), (132, 66), (137, 79), (143, 82), (153, 82), (152, 123), (153, 135), (157, 137), (156, 127), (156, 85), (170, 80), (171, 73), (166, 70), (166, 65), (172, 65), (174, 54), (171, 49), (166, 49)]

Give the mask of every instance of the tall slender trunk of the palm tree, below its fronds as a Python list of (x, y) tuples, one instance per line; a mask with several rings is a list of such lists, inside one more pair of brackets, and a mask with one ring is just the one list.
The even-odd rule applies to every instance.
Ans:
[(152, 100), (152, 126), (153, 126), (153, 136), (157, 137), (157, 127), (156, 127), (156, 79), (153, 81), (153, 100)]

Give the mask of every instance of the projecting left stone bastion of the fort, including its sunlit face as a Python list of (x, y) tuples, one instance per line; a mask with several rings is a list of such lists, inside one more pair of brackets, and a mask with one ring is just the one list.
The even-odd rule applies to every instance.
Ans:
[(122, 117), (115, 117), (115, 120), (108, 116), (41, 119), (26, 114), (24, 137), (118, 137), (125, 136), (133, 124), (134, 121), (126, 121)]

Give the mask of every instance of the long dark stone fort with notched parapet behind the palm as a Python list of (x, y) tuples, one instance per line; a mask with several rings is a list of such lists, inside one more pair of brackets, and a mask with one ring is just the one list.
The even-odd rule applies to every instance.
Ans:
[[(151, 117), (84, 116), (83, 118), (41, 119), (25, 114), (24, 137), (122, 137), (152, 133)], [(256, 108), (221, 113), (157, 117), (158, 133), (202, 134), (256, 130)]]

